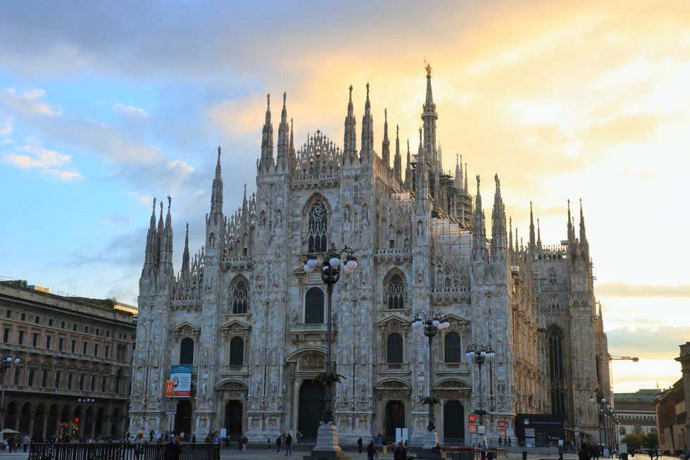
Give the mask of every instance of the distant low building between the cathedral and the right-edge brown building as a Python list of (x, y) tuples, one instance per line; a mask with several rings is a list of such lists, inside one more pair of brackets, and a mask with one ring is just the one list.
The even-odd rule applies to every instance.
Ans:
[(654, 399), (661, 390), (637, 390), (634, 393), (614, 393), (613, 406), (620, 422), (618, 440), (630, 433), (646, 435), (656, 431)]

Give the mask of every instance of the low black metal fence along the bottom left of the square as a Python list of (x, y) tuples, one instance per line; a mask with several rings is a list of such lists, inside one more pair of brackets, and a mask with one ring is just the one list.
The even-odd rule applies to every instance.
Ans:
[[(156, 442), (138, 447), (121, 442), (32, 444), (29, 460), (163, 460), (165, 447)], [(180, 460), (220, 460), (220, 445), (183, 443)]]

